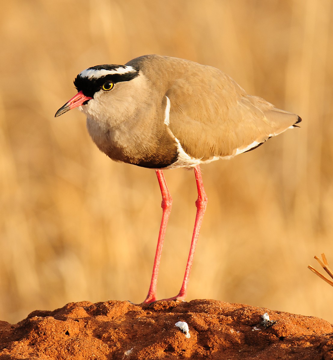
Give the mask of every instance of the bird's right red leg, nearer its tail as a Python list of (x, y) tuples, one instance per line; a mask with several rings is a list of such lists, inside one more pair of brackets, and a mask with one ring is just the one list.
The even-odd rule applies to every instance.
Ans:
[(196, 215), (196, 221), (194, 223), (192, 242), (191, 242), (190, 252), (189, 252), (188, 260), (187, 260), (187, 264), (186, 264), (184, 280), (183, 280), (183, 284), (181, 285), (179, 294), (176, 295), (175, 297), (172, 297), (170, 299), (165, 299), (165, 300), (184, 300), (186, 297), (186, 294), (187, 294), (187, 285), (188, 285), (188, 280), (189, 280), (190, 272), (191, 272), (191, 268), (192, 268), (194, 251), (197, 246), (197, 241), (198, 241), (199, 231), (200, 231), (201, 224), (202, 224), (203, 214), (205, 213), (206, 206), (207, 206), (207, 195), (205, 193), (205, 189), (203, 188), (203, 182), (202, 182), (201, 171), (200, 171), (199, 165), (197, 165), (194, 168), (194, 174), (196, 176), (196, 182), (197, 182), (197, 188), (198, 188), (198, 199), (196, 201), (197, 215)]

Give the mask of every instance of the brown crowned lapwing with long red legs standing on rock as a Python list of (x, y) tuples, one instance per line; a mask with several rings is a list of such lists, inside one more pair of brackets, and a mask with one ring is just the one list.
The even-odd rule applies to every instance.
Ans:
[(201, 164), (253, 150), (301, 118), (247, 95), (221, 70), (190, 60), (143, 55), (124, 65), (89, 67), (74, 80), (78, 93), (55, 114), (78, 108), (97, 147), (114, 161), (153, 169), (162, 195), (162, 220), (152, 278), (143, 303), (157, 298), (157, 278), (172, 197), (163, 170), (193, 168), (196, 219), (179, 293), (185, 300), (207, 195)]

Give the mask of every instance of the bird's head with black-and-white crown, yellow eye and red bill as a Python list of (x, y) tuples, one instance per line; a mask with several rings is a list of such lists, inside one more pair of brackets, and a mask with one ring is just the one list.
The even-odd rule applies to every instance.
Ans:
[(138, 75), (138, 68), (125, 65), (97, 65), (83, 70), (74, 80), (78, 93), (56, 112), (55, 117), (77, 107), (86, 112), (88, 104), (92, 111), (96, 111), (107, 102), (112, 92), (117, 91), (117, 87), (121, 87), (120, 84), (131, 81)]

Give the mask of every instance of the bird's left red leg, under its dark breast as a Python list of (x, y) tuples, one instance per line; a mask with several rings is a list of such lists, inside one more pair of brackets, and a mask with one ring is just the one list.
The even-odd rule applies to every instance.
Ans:
[(162, 253), (163, 241), (164, 241), (164, 237), (165, 237), (165, 230), (166, 230), (166, 226), (167, 226), (167, 223), (169, 220), (171, 206), (172, 206), (172, 197), (167, 188), (165, 178), (163, 175), (163, 171), (156, 170), (156, 175), (157, 175), (159, 187), (161, 188), (161, 194), (162, 194), (161, 206), (162, 206), (163, 213), (162, 213), (161, 226), (159, 228), (159, 234), (158, 234), (158, 240), (157, 240), (157, 248), (156, 248), (156, 253), (155, 253), (152, 280), (150, 281), (148, 295), (146, 297), (146, 300), (144, 301), (144, 303), (147, 303), (147, 304), (150, 304), (151, 302), (154, 302), (157, 300), (156, 287), (157, 287), (158, 268), (159, 268), (159, 263), (161, 261), (161, 253)]

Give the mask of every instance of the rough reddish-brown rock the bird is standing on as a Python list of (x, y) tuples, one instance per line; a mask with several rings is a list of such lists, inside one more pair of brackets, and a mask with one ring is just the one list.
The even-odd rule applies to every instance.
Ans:
[(333, 328), (311, 316), (215, 300), (84, 301), (0, 322), (1, 360), (186, 358), (329, 360)]

